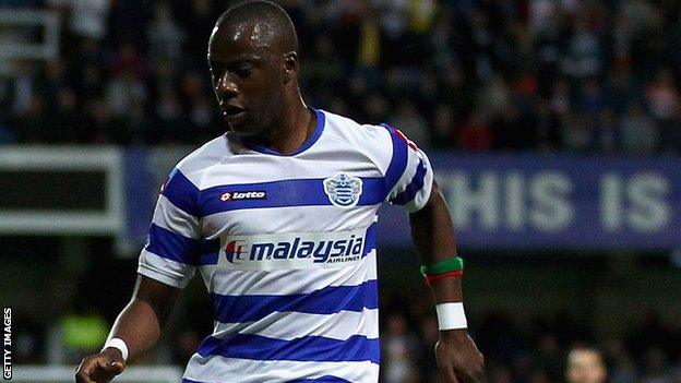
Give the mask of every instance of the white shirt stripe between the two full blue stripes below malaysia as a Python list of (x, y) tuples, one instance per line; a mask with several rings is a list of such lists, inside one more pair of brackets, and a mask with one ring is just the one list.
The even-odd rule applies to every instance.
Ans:
[(377, 339), (379, 337), (379, 310), (365, 308), (361, 312), (344, 310), (334, 314), (273, 312), (255, 322), (218, 323), (213, 336), (225, 338), (237, 333), (284, 340), (303, 336), (323, 336), (346, 340), (353, 335)]

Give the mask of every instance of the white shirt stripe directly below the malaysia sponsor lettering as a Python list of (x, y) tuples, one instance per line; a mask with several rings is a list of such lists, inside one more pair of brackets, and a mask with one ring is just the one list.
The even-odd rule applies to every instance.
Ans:
[(328, 286), (357, 286), (377, 279), (377, 252), (370, 251), (357, 266), (345, 268), (242, 271), (201, 266), (208, 292), (230, 296), (291, 295)]

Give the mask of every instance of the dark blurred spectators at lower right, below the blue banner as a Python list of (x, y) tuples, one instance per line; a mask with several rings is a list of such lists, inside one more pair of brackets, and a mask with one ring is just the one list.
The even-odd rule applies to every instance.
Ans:
[[(395, 295), (382, 302), (382, 381), (438, 382), (438, 319), (429, 299), (404, 298)], [(560, 313), (521, 323), (503, 312), (487, 312), (473, 315), (469, 323), (475, 323), (471, 335), (485, 354), (490, 383), (681, 383), (681, 327), (670, 327), (654, 314), (630, 333), (607, 339)], [(597, 352), (605, 376), (593, 376), (598, 366), (571, 360), (574, 349)], [(568, 376), (571, 370), (576, 370), (574, 376)]]

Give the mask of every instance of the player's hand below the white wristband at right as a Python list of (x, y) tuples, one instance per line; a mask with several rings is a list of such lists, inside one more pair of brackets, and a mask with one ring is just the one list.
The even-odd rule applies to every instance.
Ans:
[(435, 359), (443, 382), (485, 382), (485, 359), (466, 330), (441, 331)]

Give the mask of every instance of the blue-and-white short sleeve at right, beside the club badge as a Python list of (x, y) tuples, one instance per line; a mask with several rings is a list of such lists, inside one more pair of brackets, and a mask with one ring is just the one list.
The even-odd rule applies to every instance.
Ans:
[(421, 210), (432, 190), (433, 172), (428, 156), (399, 130), (384, 125), (391, 135), (392, 158), (385, 171), (386, 200), (407, 213)]

